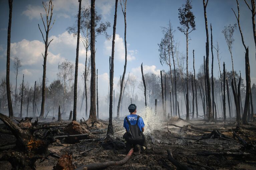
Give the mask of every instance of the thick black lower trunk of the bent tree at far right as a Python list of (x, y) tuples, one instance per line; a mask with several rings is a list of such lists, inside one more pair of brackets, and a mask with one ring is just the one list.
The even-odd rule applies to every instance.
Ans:
[(250, 90), (251, 90), (251, 78), (250, 78), (250, 63), (249, 63), (249, 54), (248, 48), (246, 49), (245, 53), (245, 75), (246, 75), (246, 95), (245, 95), (245, 102), (244, 102), (244, 112), (242, 117), (242, 123), (248, 124), (247, 122), (247, 112), (249, 107), (249, 100), (250, 100)]

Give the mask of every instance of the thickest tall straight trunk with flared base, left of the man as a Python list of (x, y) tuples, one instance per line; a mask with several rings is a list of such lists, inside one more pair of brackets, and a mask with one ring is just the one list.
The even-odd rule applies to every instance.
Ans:
[[(91, 83), (90, 83), (90, 114), (87, 121), (97, 121), (95, 96), (95, 0), (91, 0)], [(115, 36), (115, 34), (113, 34)]]

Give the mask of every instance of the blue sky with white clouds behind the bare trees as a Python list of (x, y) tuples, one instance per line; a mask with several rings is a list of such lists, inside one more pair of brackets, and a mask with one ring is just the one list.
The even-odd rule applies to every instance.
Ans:
[[(45, 2), (45, 1), (44, 1)], [(167, 66), (162, 66), (159, 62), (158, 43), (163, 37), (161, 26), (167, 26), (169, 20), (173, 28), (176, 30), (174, 34), (175, 41), (180, 44), (179, 51), (186, 54), (186, 37), (178, 31), (180, 26), (178, 18), (178, 8), (185, 3), (185, 0), (128, 0), (127, 2), (127, 43), (128, 43), (128, 74), (131, 72), (134, 76), (141, 79), (140, 65), (143, 62), (144, 73), (160, 74), (160, 70), (168, 71)], [(240, 3), (240, 22), (244, 34), (245, 44), (249, 46), (249, 58), (251, 65), (251, 81), (256, 83), (256, 61), (255, 61), (255, 45), (252, 32), (251, 13), (243, 0)], [(68, 26), (75, 23), (75, 15), (78, 11), (77, 0), (53, 0), (53, 19), (55, 24), (50, 30), (49, 37), (53, 38), (49, 46), (49, 55), (47, 57), (46, 76), (48, 85), (54, 79), (57, 79), (58, 62), (67, 59), (75, 62), (76, 39), (66, 32)], [(82, 0), (82, 6), (90, 4), (89, 0)], [(108, 34), (112, 35), (114, 0), (96, 0), (96, 10), (98, 14), (102, 14), (102, 21), (109, 21), (111, 27)], [(196, 30), (190, 34), (189, 41), (189, 70), (193, 69), (193, 49), (195, 50), (195, 69), (196, 72), (203, 63), (205, 55), (205, 24), (204, 10), (202, 0), (192, 1), (195, 15)], [(8, 1), (0, 1), (0, 78), (4, 78), (6, 74), (6, 46), (7, 46), (7, 27), (9, 6)], [(227, 49), (222, 30), (224, 26), (237, 23), (236, 18), (231, 10), (237, 11), (235, 0), (209, 0), (207, 6), (208, 27), (210, 31), (210, 23), (213, 26), (213, 42), (216, 41), (220, 45), (221, 63), (225, 62), (226, 69), (232, 70), (231, 57)], [(41, 33), (38, 29), (39, 24), (42, 28), (40, 12), (44, 16), (41, 0), (14, 0), (12, 14), (11, 29), (11, 83), (15, 83), (13, 72), (13, 58), (18, 56), (22, 62), (21, 72), (18, 82), (24, 80), (30, 85), (34, 81), (38, 81), (42, 77), (43, 58), (41, 53), (44, 52), (44, 45)], [(115, 43), (115, 59), (114, 59), (114, 88), (117, 88), (119, 75), (123, 72), (124, 65), (124, 21), (120, 3), (117, 8), (117, 24), (116, 24), (116, 43)], [(234, 68), (241, 71), (242, 77), (245, 77), (245, 59), (244, 47), (241, 43), (239, 30), (234, 35), (235, 42), (233, 45)], [(78, 86), (82, 87), (81, 74), (85, 63), (85, 49), (80, 44), (79, 52), (79, 78)], [(108, 59), (111, 55), (111, 41), (101, 36), (97, 37), (96, 48), (96, 68), (99, 74), (99, 95), (107, 94), (108, 82)], [(210, 56), (211, 58), (211, 52)], [(214, 51), (214, 76), (218, 74), (218, 62), (216, 52)], [(210, 62), (211, 64), (211, 62)]]

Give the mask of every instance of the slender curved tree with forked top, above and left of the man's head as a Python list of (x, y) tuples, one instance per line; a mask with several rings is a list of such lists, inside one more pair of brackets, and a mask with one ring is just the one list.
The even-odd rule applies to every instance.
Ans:
[[(124, 17), (124, 47), (125, 47), (125, 62), (123, 66), (123, 75), (120, 83), (120, 94), (119, 94), (119, 99), (118, 99), (118, 104), (117, 104), (117, 118), (119, 118), (119, 112), (120, 112), (120, 105), (121, 105), (121, 99), (122, 99), (122, 90), (123, 90), (123, 81), (125, 77), (125, 72), (126, 72), (126, 65), (127, 65), (127, 44), (126, 44), (126, 3), (127, 0), (122, 0), (123, 4), (120, 0), (121, 8), (122, 8), (122, 13)], [(146, 104), (147, 106), (147, 104)]]

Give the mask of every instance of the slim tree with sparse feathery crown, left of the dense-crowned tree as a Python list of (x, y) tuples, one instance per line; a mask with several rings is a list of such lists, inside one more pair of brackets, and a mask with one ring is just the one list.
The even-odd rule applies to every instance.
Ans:
[[(176, 68), (174, 62), (174, 51), (176, 47), (174, 45), (174, 32), (172, 24), (169, 21), (168, 27), (162, 27), (162, 32), (164, 34), (164, 38), (161, 39), (161, 43), (158, 44), (159, 52), (160, 52), (160, 63), (167, 64), (170, 67), (170, 77), (171, 77), (171, 87), (172, 87), (172, 97), (173, 97), (173, 113), (177, 116), (177, 88), (176, 88)], [(174, 81), (175, 81), (175, 110), (174, 110), (174, 91), (173, 91), (173, 78), (172, 78), (172, 63), (171, 56), (173, 58), (173, 66), (174, 66)], [(172, 115), (172, 103), (171, 103), (171, 115)]]

